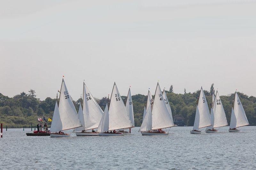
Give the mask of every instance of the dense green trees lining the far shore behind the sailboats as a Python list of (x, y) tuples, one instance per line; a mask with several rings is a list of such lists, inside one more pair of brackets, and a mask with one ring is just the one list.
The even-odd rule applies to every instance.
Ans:
[[(167, 98), (172, 108), (172, 115), (183, 115), (186, 119), (188, 126), (193, 126), (195, 114), (196, 114), (196, 100), (199, 96), (200, 90), (196, 92), (186, 92), (184, 89), (183, 94), (177, 94), (173, 92), (173, 86), (171, 85), (169, 91), (166, 91)], [(213, 84), (210, 91), (204, 90), (208, 106), (210, 109), (212, 92), (215, 92)], [(238, 92), (239, 98), (243, 104), (248, 121), (251, 125), (256, 125), (256, 97), (247, 96), (244, 93)], [(125, 101), (126, 96), (122, 96)], [(228, 123), (231, 116), (232, 101), (234, 100), (234, 93), (220, 96), (224, 110), (226, 112)], [(96, 99), (102, 110), (106, 106), (108, 101), (107, 97)], [(47, 97), (45, 100), (36, 98), (35, 90), (30, 89), (28, 93), (21, 92), (13, 97), (4, 96), (0, 93), (0, 122), (7, 124), (8, 128), (21, 128), (33, 127), (37, 124), (37, 116), (47, 116), (52, 118), (56, 99)], [(78, 111), (78, 107), (81, 100), (73, 100), (73, 103)], [(147, 102), (147, 96), (142, 94), (136, 94), (132, 96), (134, 122), (135, 126), (140, 126), (143, 117), (144, 105)]]

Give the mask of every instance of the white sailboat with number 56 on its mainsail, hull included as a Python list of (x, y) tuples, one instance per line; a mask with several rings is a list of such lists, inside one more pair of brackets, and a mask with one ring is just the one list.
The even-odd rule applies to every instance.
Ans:
[[(83, 126), (74, 130), (76, 132), (76, 136), (98, 136), (99, 133), (95, 132), (94, 129), (98, 128), (103, 111), (85, 83), (83, 86), (83, 107), (80, 107), (78, 110), (78, 118)], [(92, 132), (86, 132), (86, 130), (91, 129)]]

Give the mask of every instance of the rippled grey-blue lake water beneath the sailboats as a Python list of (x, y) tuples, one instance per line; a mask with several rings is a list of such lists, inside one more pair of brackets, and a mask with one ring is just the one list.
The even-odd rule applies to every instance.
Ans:
[(174, 127), (168, 136), (141, 136), (138, 129), (123, 137), (66, 138), (4, 129), (0, 169), (256, 169), (256, 127), (199, 135)]

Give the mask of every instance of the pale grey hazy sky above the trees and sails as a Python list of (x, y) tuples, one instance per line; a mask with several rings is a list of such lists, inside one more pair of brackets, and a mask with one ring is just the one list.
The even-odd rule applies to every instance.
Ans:
[(256, 96), (256, 1), (10, 0), (0, 5), (0, 92), (73, 99), (205, 90)]

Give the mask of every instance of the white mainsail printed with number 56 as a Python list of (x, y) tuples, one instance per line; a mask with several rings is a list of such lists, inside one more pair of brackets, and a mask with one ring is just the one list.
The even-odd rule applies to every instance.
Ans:
[(85, 83), (83, 93), (84, 129), (96, 129), (99, 126), (103, 111)]

